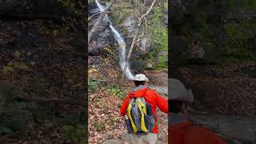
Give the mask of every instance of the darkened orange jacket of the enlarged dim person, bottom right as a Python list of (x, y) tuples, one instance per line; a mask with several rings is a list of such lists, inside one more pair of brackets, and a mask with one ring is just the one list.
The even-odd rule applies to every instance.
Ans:
[(217, 134), (194, 125), (192, 122), (180, 122), (168, 130), (170, 144), (225, 144)]

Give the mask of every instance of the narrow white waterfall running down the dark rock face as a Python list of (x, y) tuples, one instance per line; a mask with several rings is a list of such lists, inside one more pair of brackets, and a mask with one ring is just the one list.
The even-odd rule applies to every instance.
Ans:
[[(98, 0), (95, 0), (99, 10), (102, 12), (105, 8), (104, 6), (102, 6)], [(110, 22), (107, 14), (104, 18), (106, 21)], [(121, 67), (122, 72), (124, 71), (124, 68), (126, 66), (126, 42), (124, 42), (121, 34), (118, 33), (117, 30), (114, 29), (114, 26), (112, 25), (112, 22), (110, 22), (110, 29), (112, 30), (112, 32), (114, 33), (114, 38), (117, 40), (118, 42), (118, 56), (119, 56), (119, 66)], [(132, 74), (132, 72), (130, 71), (130, 66), (127, 66), (126, 69), (126, 78), (128, 78), (129, 80), (134, 79), (134, 74)]]

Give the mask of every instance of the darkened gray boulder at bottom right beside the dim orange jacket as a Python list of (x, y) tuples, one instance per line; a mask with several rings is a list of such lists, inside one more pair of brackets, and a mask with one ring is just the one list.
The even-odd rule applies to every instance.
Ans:
[(190, 110), (190, 115), (194, 122), (223, 134), (227, 138), (237, 139), (242, 142), (256, 142), (256, 121), (253, 118), (202, 114), (194, 110)]

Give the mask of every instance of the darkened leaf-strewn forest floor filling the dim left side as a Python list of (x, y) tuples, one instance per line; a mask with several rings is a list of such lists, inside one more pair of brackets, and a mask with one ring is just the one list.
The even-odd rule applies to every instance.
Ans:
[[(86, 99), (83, 31), (64, 31), (45, 20), (0, 23), (1, 86), (10, 85), (25, 98)], [(68, 122), (59, 120), (84, 113), (83, 106), (38, 106), (38, 122), (31, 118), (24, 131), (2, 135), (0, 143), (64, 143), (61, 128)]]

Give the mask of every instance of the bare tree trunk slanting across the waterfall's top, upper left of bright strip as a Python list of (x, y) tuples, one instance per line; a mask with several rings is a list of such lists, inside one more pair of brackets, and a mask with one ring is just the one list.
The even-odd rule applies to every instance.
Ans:
[(90, 33), (88, 34), (88, 43), (90, 42), (90, 38), (97, 30), (98, 26), (101, 24), (102, 19), (105, 17), (108, 10), (110, 10), (110, 7), (114, 4), (115, 0), (111, 0), (110, 3), (106, 6), (106, 9), (102, 11), (100, 16), (98, 17), (97, 21), (95, 22), (93, 28), (90, 30)]

